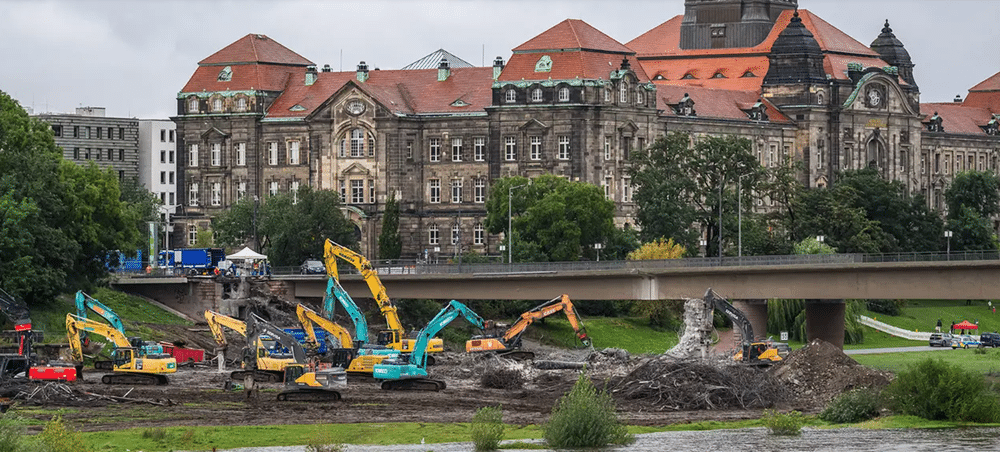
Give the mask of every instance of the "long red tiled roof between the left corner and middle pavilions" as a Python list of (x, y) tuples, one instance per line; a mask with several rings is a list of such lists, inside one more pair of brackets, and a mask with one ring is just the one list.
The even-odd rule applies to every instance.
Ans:
[[(320, 72), (305, 86), (305, 75), (294, 79), (267, 112), (268, 118), (296, 118), (312, 114), (323, 102), (350, 83), (357, 85), (396, 114), (482, 113), (493, 102), (492, 67), (453, 68), (443, 82), (437, 69), (370, 71), (364, 83), (356, 72)], [(453, 106), (461, 100), (466, 105)], [(304, 110), (291, 111), (300, 105)]]

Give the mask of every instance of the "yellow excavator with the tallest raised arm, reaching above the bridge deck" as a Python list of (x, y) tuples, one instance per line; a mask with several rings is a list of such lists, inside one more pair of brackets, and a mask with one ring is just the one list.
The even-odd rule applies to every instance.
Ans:
[[(353, 250), (327, 239), (324, 245), (323, 258), (326, 263), (327, 273), (331, 274), (334, 278), (338, 276), (337, 264), (335, 262), (337, 257), (350, 262), (354, 268), (358, 269), (361, 277), (368, 284), (368, 289), (371, 290), (375, 302), (378, 303), (379, 309), (382, 311), (382, 316), (385, 317), (388, 329), (379, 332), (375, 343), (404, 353), (413, 352), (416, 340), (406, 337), (406, 331), (403, 329), (403, 324), (399, 320), (399, 314), (396, 312), (396, 305), (392, 303), (389, 295), (386, 294), (385, 286), (382, 285), (382, 281), (378, 278), (378, 272), (372, 267), (371, 262)], [(424, 351), (427, 353), (440, 353), (444, 351), (444, 341), (441, 338), (429, 338), (425, 344), (427, 349)], [(427, 363), (428, 365), (434, 365), (434, 357), (427, 356)]]

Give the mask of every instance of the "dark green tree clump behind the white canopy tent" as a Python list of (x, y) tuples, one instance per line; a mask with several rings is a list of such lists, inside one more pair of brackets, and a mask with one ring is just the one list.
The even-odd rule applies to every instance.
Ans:
[[(357, 244), (354, 225), (341, 212), (340, 195), (330, 190), (300, 188), (291, 194), (271, 196), (257, 208), (257, 236), (261, 250), (277, 266), (298, 265), (323, 255), (326, 239), (345, 246)], [(254, 201), (241, 200), (212, 221), (217, 242), (237, 246), (253, 236)]]

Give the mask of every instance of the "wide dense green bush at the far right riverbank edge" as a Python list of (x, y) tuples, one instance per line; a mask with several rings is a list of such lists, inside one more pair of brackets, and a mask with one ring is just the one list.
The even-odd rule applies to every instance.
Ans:
[(900, 372), (882, 393), (899, 414), (934, 421), (1000, 421), (1000, 400), (983, 375), (940, 359), (928, 358)]

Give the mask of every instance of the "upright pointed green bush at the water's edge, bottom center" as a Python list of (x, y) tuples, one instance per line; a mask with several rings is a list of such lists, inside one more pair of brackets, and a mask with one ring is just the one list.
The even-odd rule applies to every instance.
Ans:
[(631, 444), (635, 437), (618, 420), (615, 403), (581, 372), (573, 388), (556, 402), (545, 424), (545, 441), (556, 449)]

